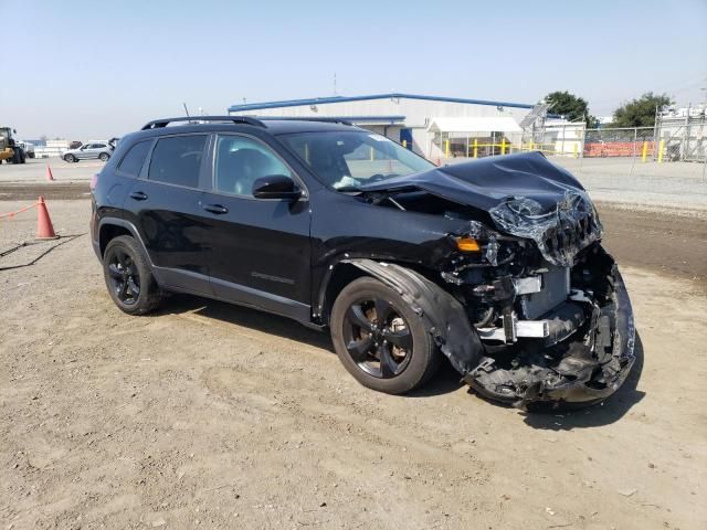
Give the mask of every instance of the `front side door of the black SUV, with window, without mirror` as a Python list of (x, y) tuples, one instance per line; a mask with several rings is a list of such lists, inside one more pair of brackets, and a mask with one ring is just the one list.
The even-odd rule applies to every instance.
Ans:
[[(264, 141), (220, 134), (212, 142), (209, 275), (219, 298), (298, 320), (310, 318), (309, 204), (304, 186)], [(285, 176), (303, 189), (299, 200), (255, 199), (261, 177)]]

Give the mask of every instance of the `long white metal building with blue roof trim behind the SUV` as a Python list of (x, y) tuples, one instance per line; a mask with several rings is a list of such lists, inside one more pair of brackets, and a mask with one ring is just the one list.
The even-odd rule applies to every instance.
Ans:
[(518, 132), (532, 108), (521, 103), (391, 93), (233, 105), (229, 114), (339, 118), (435, 159), (449, 156), (451, 142), (461, 146), (460, 156), (468, 156), (464, 149), (468, 151), (469, 138)]

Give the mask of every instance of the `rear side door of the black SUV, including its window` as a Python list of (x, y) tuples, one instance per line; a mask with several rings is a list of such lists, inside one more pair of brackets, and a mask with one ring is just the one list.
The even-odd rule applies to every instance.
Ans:
[(157, 139), (124, 203), (158, 282), (205, 295), (212, 294), (205, 263), (210, 220), (201, 208), (209, 139), (208, 134)]

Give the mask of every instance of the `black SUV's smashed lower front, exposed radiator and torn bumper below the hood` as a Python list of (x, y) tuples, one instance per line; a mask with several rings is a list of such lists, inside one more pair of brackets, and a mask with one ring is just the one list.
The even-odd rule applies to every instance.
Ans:
[(572, 267), (546, 262), (469, 290), (467, 307), (484, 317), (475, 326), (485, 353), (464, 381), (481, 395), (521, 407), (591, 404), (615, 392), (633, 365), (631, 303), (598, 243)]

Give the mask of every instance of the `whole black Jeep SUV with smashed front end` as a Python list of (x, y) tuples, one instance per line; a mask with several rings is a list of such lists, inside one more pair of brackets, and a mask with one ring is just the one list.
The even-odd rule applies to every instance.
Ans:
[(92, 189), (131, 315), (163, 292), (251, 306), (328, 327), (371, 389), (414, 389), (444, 356), (518, 406), (601, 401), (634, 361), (597, 211), (539, 152), (435, 167), (342, 121), (175, 118), (126, 136)]

